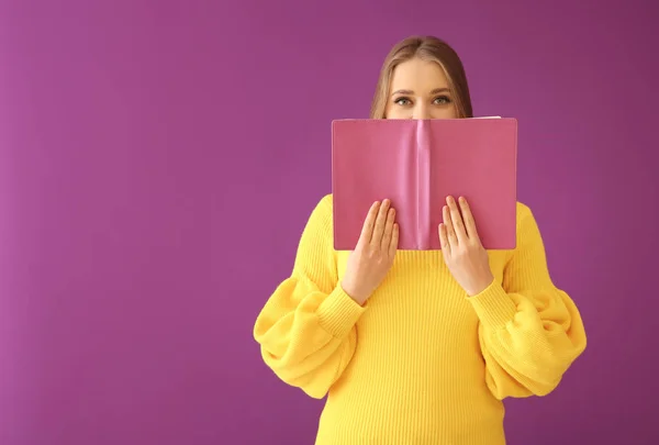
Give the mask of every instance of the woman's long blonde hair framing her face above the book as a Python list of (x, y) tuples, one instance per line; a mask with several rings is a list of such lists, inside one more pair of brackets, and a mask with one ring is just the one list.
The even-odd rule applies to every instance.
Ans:
[(376, 86), (370, 118), (384, 119), (391, 76), (398, 65), (414, 57), (435, 62), (444, 70), (454, 97), (458, 118), (473, 118), (469, 85), (458, 54), (446, 42), (434, 36), (411, 36), (396, 43), (387, 55)]

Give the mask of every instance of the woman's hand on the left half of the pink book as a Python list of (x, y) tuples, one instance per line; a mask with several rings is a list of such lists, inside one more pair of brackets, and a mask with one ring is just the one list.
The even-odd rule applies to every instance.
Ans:
[(388, 199), (373, 202), (342, 280), (344, 291), (360, 305), (384, 280), (393, 265), (398, 241), (399, 226), (391, 202)]

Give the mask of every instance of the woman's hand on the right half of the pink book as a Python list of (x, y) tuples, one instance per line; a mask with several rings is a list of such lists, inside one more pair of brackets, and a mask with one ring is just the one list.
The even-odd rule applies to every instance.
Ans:
[[(483, 248), (476, 230), (476, 221), (467, 200), (459, 199), (460, 208), (453, 197), (446, 198), (444, 222), (439, 224), (442, 253), (451, 275), (470, 296), (488, 288), (494, 280), (488, 253)], [(460, 215), (460, 210), (462, 215)]]

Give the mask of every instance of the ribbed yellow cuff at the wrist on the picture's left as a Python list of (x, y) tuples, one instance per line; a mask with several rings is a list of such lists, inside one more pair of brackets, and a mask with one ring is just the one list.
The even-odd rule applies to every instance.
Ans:
[(337, 338), (346, 336), (366, 308), (348, 296), (340, 285), (327, 296), (317, 310), (321, 326)]

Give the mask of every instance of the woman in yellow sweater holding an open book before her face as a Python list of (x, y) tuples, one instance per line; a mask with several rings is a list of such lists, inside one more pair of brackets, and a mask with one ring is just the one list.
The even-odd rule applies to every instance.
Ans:
[[(392, 48), (372, 119), (471, 116), (451, 47), (410, 37)], [(288, 385), (327, 396), (316, 444), (504, 444), (502, 400), (549, 393), (584, 351), (579, 311), (552, 283), (526, 205), (517, 203), (517, 247), (492, 252), (468, 202), (437, 205), (442, 251), (396, 252), (384, 200), (355, 251), (336, 252), (324, 197), (291, 276), (259, 314), (265, 363)]]

